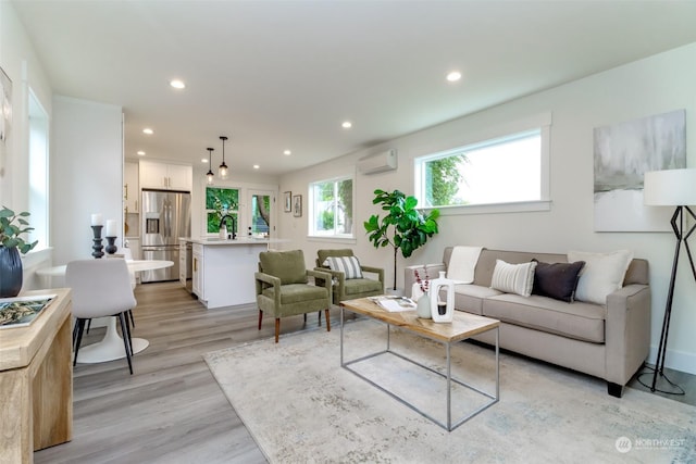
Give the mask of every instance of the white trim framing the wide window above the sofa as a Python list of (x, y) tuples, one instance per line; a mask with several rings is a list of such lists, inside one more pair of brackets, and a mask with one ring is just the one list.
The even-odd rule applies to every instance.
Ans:
[(445, 158), (448, 153), (455, 154), (462, 149), (482, 148), (486, 147), (494, 140), (504, 140), (506, 137), (514, 137), (517, 135), (523, 135), (524, 133), (531, 133), (533, 130), (539, 131), (540, 137), (540, 177), (539, 177), (539, 199), (532, 201), (515, 201), (515, 202), (498, 202), (498, 203), (485, 203), (485, 204), (456, 204), (456, 205), (437, 205), (425, 206), (424, 210), (438, 209), (442, 215), (468, 215), (468, 214), (497, 214), (497, 213), (520, 213), (520, 212), (535, 212), (535, 211), (549, 211), (551, 209), (550, 197), (550, 136), (551, 136), (552, 113), (546, 112), (536, 115), (532, 115), (524, 120), (504, 124), (500, 127), (493, 130), (486, 130), (485, 135), (474, 137), (468, 141), (459, 145), (455, 148), (439, 150), (434, 153), (423, 154), (413, 159), (413, 191), (419, 196), (419, 202), (422, 202), (420, 198), (423, 191), (423, 168), (422, 165), (426, 161), (431, 161), (437, 158)]

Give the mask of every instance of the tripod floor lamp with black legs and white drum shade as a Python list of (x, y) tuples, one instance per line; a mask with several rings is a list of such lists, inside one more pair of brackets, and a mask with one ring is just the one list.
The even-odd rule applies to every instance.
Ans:
[[(645, 173), (643, 186), (644, 203), (650, 206), (675, 206), (672, 215), (672, 230), (676, 236), (676, 246), (674, 248), (674, 261), (672, 263), (672, 275), (670, 277), (670, 287), (667, 293), (667, 304), (664, 306), (664, 318), (662, 321), (662, 333), (660, 335), (660, 346), (657, 350), (657, 362), (655, 363), (655, 374), (652, 375), (652, 385), (650, 391), (655, 392), (655, 383), (658, 374), (663, 376), (664, 371), (664, 353), (667, 351), (667, 337), (670, 331), (670, 317), (672, 316), (672, 299), (674, 298), (674, 281), (676, 279), (676, 267), (679, 264), (679, 255), (682, 242), (686, 248), (688, 262), (692, 266), (692, 273), (696, 280), (696, 267), (694, 267), (694, 259), (692, 251), (686, 241), (696, 229), (696, 215), (689, 205), (696, 204), (696, 170), (664, 170)], [(695, 223), (691, 228), (685, 230), (688, 213)]]

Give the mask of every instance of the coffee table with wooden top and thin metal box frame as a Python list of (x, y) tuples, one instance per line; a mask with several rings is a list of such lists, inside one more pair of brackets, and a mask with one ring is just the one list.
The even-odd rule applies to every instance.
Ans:
[[(362, 314), (365, 315), (368, 317), (371, 317), (375, 321), (380, 321), (386, 324), (387, 326), (387, 334), (386, 334), (386, 349), (375, 352), (375, 353), (371, 353), (361, 358), (357, 358), (355, 360), (350, 360), (350, 361), (346, 361), (344, 359), (344, 312), (345, 311), (350, 311), (352, 313), (357, 313), (357, 314)], [(445, 365), (445, 373), (442, 373), (439, 371), (433, 369), (428, 366), (425, 366), (401, 353), (395, 352), (391, 347), (390, 347), (390, 342), (389, 342), (389, 334), (391, 333), (391, 326), (395, 327), (399, 327), (403, 330), (413, 333), (415, 335), (419, 335), (421, 337), (425, 337), (428, 338), (431, 340), (434, 340), (436, 342), (439, 342), (445, 346), (445, 350), (447, 353), (447, 361), (446, 361), (446, 365)], [(455, 428), (459, 427), (460, 425), (462, 425), (464, 422), (469, 421), (470, 418), (472, 418), (473, 416), (475, 416), (476, 414), (481, 413), (482, 411), (490, 407), (492, 405), (494, 405), (495, 403), (498, 402), (499, 398), (500, 398), (500, 362), (499, 362), (499, 346), (498, 346), (498, 341), (499, 341), (499, 326), (500, 326), (500, 322), (496, 321), (496, 319), (492, 319), (489, 317), (484, 317), (484, 316), (477, 316), (475, 314), (469, 314), (469, 313), (463, 313), (460, 311), (455, 311), (455, 317), (453, 321), (451, 323), (434, 323), (432, 319), (422, 319), (420, 317), (417, 316), (415, 311), (402, 311), (402, 312), (389, 312), (384, 310), (382, 306), (380, 306), (378, 304), (376, 304), (375, 302), (373, 302), (372, 300), (368, 299), (368, 298), (360, 298), (357, 300), (347, 300), (347, 301), (341, 301), (340, 302), (340, 365), (341, 367), (350, 371), (351, 373), (353, 373), (355, 375), (357, 375), (358, 377), (362, 378), (363, 380), (368, 381), (369, 384), (373, 385), (374, 387), (381, 389), (382, 391), (384, 391), (385, 393), (391, 396), (393, 398), (395, 398), (396, 400), (398, 400), (399, 402), (406, 404), (407, 406), (409, 406), (410, 409), (412, 409), (413, 411), (418, 412), (419, 414), (421, 414), (422, 416), (433, 421), (435, 424), (439, 425), (440, 427), (445, 428), (446, 430), (453, 430)], [(495, 330), (496, 331), (496, 348), (495, 348), (495, 355), (496, 355), (496, 391), (495, 394), (493, 393), (488, 393), (485, 392), (476, 387), (473, 387), (460, 379), (456, 379), (452, 378), (451, 376), (451, 356), (450, 356), (450, 351), (451, 351), (451, 347), (452, 343), (456, 343), (458, 341), (464, 340), (467, 338), (470, 338), (474, 335), (477, 334), (482, 334), (484, 331), (488, 331), (488, 330)], [(375, 358), (382, 354), (393, 354), (395, 356), (398, 356), (402, 360), (406, 360), (412, 364), (418, 365), (419, 367), (422, 367), (424, 369), (427, 369), (434, 374), (437, 374), (438, 376), (442, 376), (446, 379), (447, 381), (447, 422), (442, 422), (436, 419), (435, 417), (433, 417), (432, 415), (427, 414), (424, 411), (421, 411), (420, 409), (418, 409), (417, 406), (414, 406), (412, 403), (408, 402), (407, 400), (405, 400), (403, 398), (399, 397), (398, 394), (387, 390), (386, 388), (382, 387), (381, 385), (376, 384), (375, 381), (373, 381), (372, 379), (368, 378), (366, 376), (362, 375), (361, 373), (357, 372), (356, 369), (353, 369), (351, 367), (352, 364), (356, 363), (360, 363), (362, 361), (369, 360), (371, 358)], [(473, 391), (476, 391), (478, 393), (481, 393), (482, 396), (488, 398), (490, 401), (487, 401), (484, 405), (482, 405), (481, 407), (476, 409), (475, 411), (471, 412), (470, 414), (465, 415), (464, 417), (461, 417), (459, 419), (457, 419), (456, 422), (452, 422), (452, 417), (451, 417), (451, 390), (452, 390), (452, 384), (457, 384), (460, 385), (462, 387), (469, 388)]]

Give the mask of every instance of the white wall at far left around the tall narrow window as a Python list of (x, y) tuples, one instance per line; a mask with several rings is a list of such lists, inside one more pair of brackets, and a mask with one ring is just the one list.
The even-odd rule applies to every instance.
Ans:
[[(29, 170), (28, 96), (32, 89), (51, 115), (51, 87), (34, 51), (24, 26), (11, 2), (0, 1), (0, 67), (12, 80), (12, 128), (4, 147), (0, 147), (0, 205), (27, 211)], [(30, 217), (29, 217), (30, 220)], [(35, 251), (22, 256), (23, 290), (37, 288), (33, 273), (50, 265), (50, 243), (39, 243)]]

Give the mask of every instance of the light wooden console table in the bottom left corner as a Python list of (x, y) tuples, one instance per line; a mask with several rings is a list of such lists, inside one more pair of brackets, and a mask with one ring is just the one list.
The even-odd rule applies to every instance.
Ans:
[(0, 329), (0, 463), (33, 463), (34, 451), (73, 436), (70, 289), (27, 327)]

